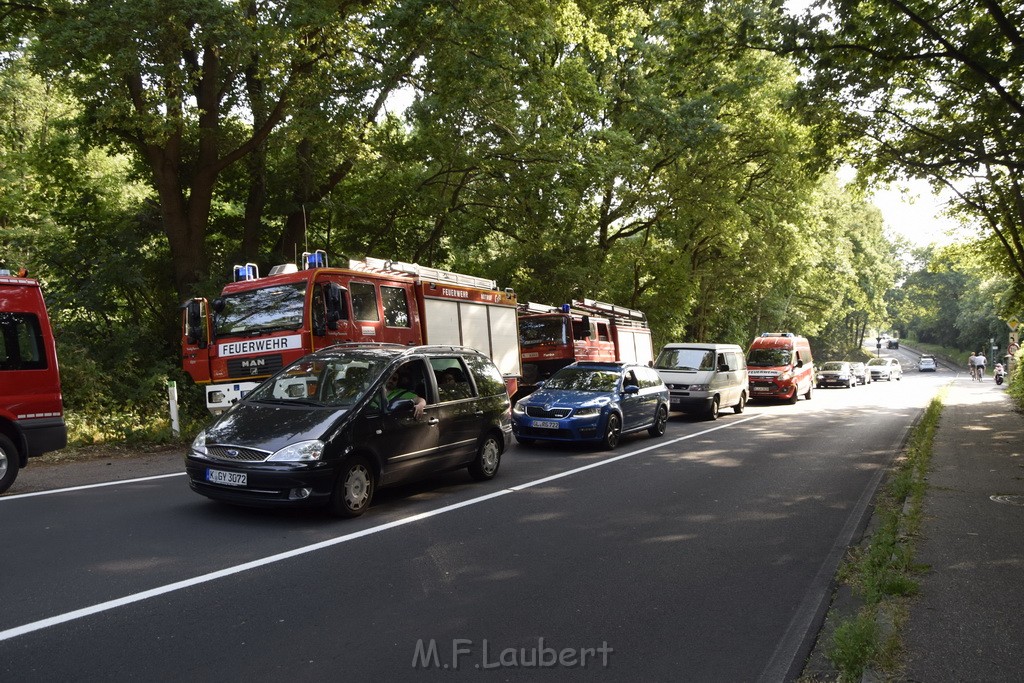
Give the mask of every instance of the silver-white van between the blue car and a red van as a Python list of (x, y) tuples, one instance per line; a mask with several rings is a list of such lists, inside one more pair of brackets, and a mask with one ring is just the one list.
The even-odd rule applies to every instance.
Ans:
[(717, 420), (746, 407), (746, 359), (736, 344), (666, 344), (654, 370), (669, 387), (671, 410)]

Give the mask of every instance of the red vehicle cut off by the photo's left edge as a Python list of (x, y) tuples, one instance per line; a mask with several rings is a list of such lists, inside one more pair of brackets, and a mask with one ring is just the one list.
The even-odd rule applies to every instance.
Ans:
[(29, 458), (68, 445), (53, 332), (39, 282), (0, 270), (0, 494)]

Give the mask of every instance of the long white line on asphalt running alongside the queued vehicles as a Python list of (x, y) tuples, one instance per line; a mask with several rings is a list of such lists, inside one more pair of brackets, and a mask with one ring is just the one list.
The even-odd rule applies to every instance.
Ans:
[[(184, 581), (178, 581), (173, 584), (166, 584), (164, 586), (158, 586), (157, 588), (150, 589), (147, 591), (142, 591), (140, 593), (133, 593), (132, 595), (126, 595), (123, 598), (116, 598), (114, 600), (108, 600), (106, 602), (100, 602), (88, 607), (83, 607), (81, 609), (75, 609), (70, 612), (65, 612), (63, 614), (56, 614), (47, 618), (39, 620), (38, 622), (32, 622), (31, 624), (25, 624), (23, 626), (16, 626), (5, 631), (0, 631), (0, 642), (5, 640), (10, 640), (11, 638), (16, 638), (17, 636), (24, 636), (35, 631), (42, 631), (51, 626), (57, 626), (59, 624), (66, 624), (68, 622), (73, 622), (75, 620), (84, 618), (86, 616), (91, 616), (92, 614), (98, 614), (99, 612), (109, 611), (111, 609), (116, 609), (118, 607), (124, 607), (125, 605), (130, 605), (133, 602), (140, 602), (142, 600), (148, 600), (150, 598), (155, 598), (159, 595), (164, 595), (166, 593), (173, 593), (174, 591), (181, 591), (186, 588), (191, 588), (193, 586), (199, 586), (200, 584), (206, 584), (211, 581), (216, 581), (217, 579), (223, 579), (225, 577), (230, 577), (232, 574), (241, 573), (243, 571), (249, 571), (250, 569), (255, 569), (257, 567), (266, 566), (267, 564), (273, 564), (281, 562), (283, 560), (291, 559), (293, 557), (299, 557), (301, 555), (306, 555), (308, 553), (316, 552), (317, 550), (324, 550), (325, 548), (330, 548), (332, 546), (337, 546), (342, 543), (348, 543), (349, 541), (355, 541), (356, 539), (361, 539), (364, 537), (373, 536), (374, 533), (380, 533), (381, 531), (386, 531), (388, 529), (396, 528), (398, 526), (404, 526), (406, 524), (412, 524), (413, 522), (422, 521), (424, 519), (429, 519), (430, 517), (436, 517), (438, 515), (452, 512), (454, 510), (459, 510), (461, 508), (469, 507), (471, 505), (478, 505), (485, 501), (489, 501), (495, 498), (500, 498), (502, 496), (507, 496), (509, 494), (518, 493), (525, 488), (531, 486), (537, 486), (539, 484), (552, 481), (554, 479), (560, 479), (572, 474), (579, 474), (580, 472), (585, 472), (587, 470), (594, 469), (595, 467), (601, 467), (603, 465), (608, 465), (610, 463), (618, 462), (620, 460), (625, 460), (626, 458), (632, 458), (638, 456), (642, 453), (647, 453), (648, 451), (653, 451), (655, 449), (665, 447), (667, 445), (672, 445), (673, 443), (678, 443), (679, 441), (685, 441), (687, 439), (696, 438), (697, 436), (702, 436), (720, 429), (726, 429), (729, 427), (734, 427), (736, 425), (741, 425), (744, 422), (750, 422), (755, 420), (760, 415), (755, 415), (743, 420), (738, 420), (735, 422), (730, 422), (729, 424), (721, 425), (719, 427), (712, 427), (711, 429), (705, 429), (703, 431), (696, 432), (694, 434), (687, 434), (686, 436), (680, 436), (678, 438), (671, 439), (669, 441), (660, 441), (658, 443), (648, 445), (643, 449), (638, 449), (637, 451), (631, 451), (630, 453), (623, 454), (621, 456), (615, 456), (614, 458), (608, 458), (597, 463), (591, 463), (590, 465), (585, 465), (584, 467), (578, 467), (567, 472), (562, 472), (560, 474), (555, 474), (553, 476), (544, 477), (543, 479), (537, 479), (535, 481), (528, 481), (517, 486), (512, 486), (510, 488), (503, 488), (501, 490), (496, 490), (490, 494), (485, 494), (484, 496), (478, 496), (472, 498), (468, 501), (463, 501), (461, 503), (453, 503), (452, 505), (446, 505), (442, 508), (437, 508), (436, 510), (429, 510), (427, 512), (421, 512), (410, 517), (404, 517), (402, 519), (396, 519), (395, 521), (380, 524), (378, 526), (372, 526), (370, 528), (365, 528), (359, 531), (353, 531), (351, 533), (345, 533), (344, 536), (339, 536), (334, 539), (328, 539), (327, 541), (321, 541), (319, 543), (314, 543), (309, 546), (303, 546), (301, 548), (296, 548), (294, 550), (289, 550), (284, 553), (278, 553), (276, 555), (269, 555), (257, 560), (252, 560), (251, 562), (245, 562), (243, 564), (237, 564), (231, 567), (226, 567), (224, 569), (219, 569), (217, 571), (211, 571), (210, 573), (205, 573), (200, 577), (195, 577), (193, 579), (185, 579)], [(163, 475), (163, 476), (174, 476), (174, 475)], [(150, 478), (161, 478), (161, 477), (146, 477)], [(139, 479), (139, 480), (145, 480)], [(126, 482), (111, 482), (114, 483), (126, 483)], [(90, 486), (79, 486), (76, 488), (88, 488)], [(76, 488), (66, 488), (63, 490), (75, 490)], [(31, 496), (32, 494), (26, 494), (26, 496)]]

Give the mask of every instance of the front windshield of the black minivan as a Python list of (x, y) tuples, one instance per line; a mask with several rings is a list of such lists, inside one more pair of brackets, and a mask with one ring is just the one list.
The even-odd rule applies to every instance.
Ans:
[(260, 384), (246, 400), (350, 407), (366, 394), (389, 360), (370, 353), (302, 358)]

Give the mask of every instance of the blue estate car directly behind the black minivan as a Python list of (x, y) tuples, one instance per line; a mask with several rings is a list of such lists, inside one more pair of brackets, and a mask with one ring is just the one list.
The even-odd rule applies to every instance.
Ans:
[(516, 402), (512, 430), (520, 443), (593, 441), (614, 449), (623, 434), (665, 433), (669, 389), (657, 372), (628, 362), (573, 362)]

